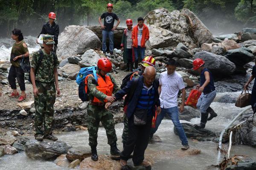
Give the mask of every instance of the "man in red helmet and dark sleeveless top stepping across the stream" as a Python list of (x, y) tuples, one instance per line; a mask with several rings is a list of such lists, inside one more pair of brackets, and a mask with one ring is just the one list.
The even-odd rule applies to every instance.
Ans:
[[(216, 117), (217, 114), (210, 107), (213, 99), (216, 96), (214, 80), (212, 73), (204, 67), (203, 59), (195, 59), (193, 61), (193, 69), (198, 71), (200, 74), (200, 84), (196, 88), (202, 92), (200, 98), (198, 99), (196, 107), (201, 111), (201, 121), (200, 124), (195, 125), (198, 128), (204, 128), (207, 120), (211, 120)], [(210, 117), (208, 118), (208, 114)]]

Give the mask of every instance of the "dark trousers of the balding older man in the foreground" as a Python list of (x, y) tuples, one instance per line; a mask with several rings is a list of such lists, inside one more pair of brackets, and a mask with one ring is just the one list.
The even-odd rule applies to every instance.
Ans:
[(133, 116), (128, 120), (128, 141), (121, 153), (121, 159), (127, 161), (133, 153), (134, 166), (141, 164), (144, 160), (144, 153), (148, 146), (151, 131), (152, 115), (147, 116), (147, 123), (143, 126), (134, 125)]

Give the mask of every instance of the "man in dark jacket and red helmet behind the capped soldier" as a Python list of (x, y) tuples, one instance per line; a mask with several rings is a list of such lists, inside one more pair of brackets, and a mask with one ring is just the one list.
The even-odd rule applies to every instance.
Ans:
[[(40, 34), (49, 34), (54, 36), (54, 48), (53, 52), (56, 54), (57, 51), (57, 45), (58, 45), (58, 34), (60, 32), (58, 24), (54, 22), (56, 19), (56, 14), (54, 12), (50, 12), (48, 15), (49, 21), (47, 23), (44, 23), (44, 26), (42, 28), (42, 31)], [(40, 36), (38, 35), (38, 37)]]

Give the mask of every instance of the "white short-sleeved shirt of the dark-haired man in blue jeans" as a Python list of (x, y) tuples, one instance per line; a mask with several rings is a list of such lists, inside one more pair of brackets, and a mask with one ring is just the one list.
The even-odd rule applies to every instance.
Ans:
[(185, 88), (181, 75), (176, 71), (171, 75), (167, 74), (167, 71), (164, 71), (160, 75), (159, 83), (161, 85), (161, 108), (172, 108), (178, 106), (178, 92)]

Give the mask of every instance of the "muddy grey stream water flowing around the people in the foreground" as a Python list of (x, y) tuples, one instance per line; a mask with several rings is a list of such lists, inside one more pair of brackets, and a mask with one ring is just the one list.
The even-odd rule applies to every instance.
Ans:
[[(218, 113), (218, 116), (212, 121), (207, 122), (206, 128), (219, 133), (224, 126), (237, 115), (237, 113), (243, 110), (241, 108), (236, 108), (234, 104), (218, 102), (213, 102), (211, 107)], [(200, 119), (196, 118), (192, 119), (191, 123), (198, 123), (199, 121)], [(122, 148), (122, 128), (122, 123), (116, 124), (116, 134), (120, 149)], [(182, 151), (180, 151), (181, 142), (178, 136), (176, 136), (173, 132), (173, 124), (171, 120), (164, 119), (156, 134), (160, 136), (163, 142), (150, 143), (148, 144), (148, 148), (146, 150), (146, 154), (153, 156), (154, 158), (154, 170), (205, 170), (211, 169), (209, 166), (216, 163), (218, 144), (214, 142), (198, 142), (189, 139), (190, 148), (201, 150), (201, 154), (183, 156)], [(109, 154), (110, 146), (107, 144), (107, 137), (104, 128), (99, 128), (98, 135), (98, 153)], [(63, 133), (58, 135), (58, 138), (67, 142), (73, 147), (88, 145), (87, 131)], [(224, 148), (226, 150), (227, 147), (227, 144), (224, 144)], [(166, 154), (166, 151), (169, 151), (171, 154)], [(163, 154), (160, 154), (160, 152), (163, 152)], [(230, 155), (247, 155), (249, 157), (255, 157), (255, 152), (256, 148), (245, 145), (234, 145), (232, 146)], [(222, 158), (223, 157), (224, 155), (222, 155)], [(0, 158), (0, 170), (34, 170), (35, 168), (37, 170), (64, 169), (58, 167), (52, 161), (38, 161), (29, 159), (26, 157), (25, 153), (5, 155)]]

